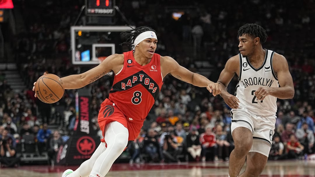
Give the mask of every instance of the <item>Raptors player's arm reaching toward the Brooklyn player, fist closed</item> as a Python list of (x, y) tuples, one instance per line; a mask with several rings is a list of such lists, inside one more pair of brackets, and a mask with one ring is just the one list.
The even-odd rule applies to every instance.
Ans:
[(221, 86), (218, 83), (214, 83), (203, 75), (193, 73), (190, 70), (180, 66), (171, 57), (161, 56), (161, 66), (163, 77), (170, 73), (175, 78), (190, 83), (194, 86), (207, 87), (207, 89), (210, 93), (213, 94), (213, 96), (221, 93)]

